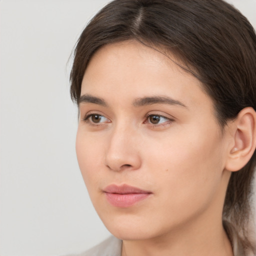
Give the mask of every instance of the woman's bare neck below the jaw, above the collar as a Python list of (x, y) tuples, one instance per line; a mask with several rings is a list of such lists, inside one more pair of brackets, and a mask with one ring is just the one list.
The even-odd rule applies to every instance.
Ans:
[(144, 240), (124, 240), (121, 256), (232, 256), (232, 248), (221, 218), (193, 220), (184, 228)]

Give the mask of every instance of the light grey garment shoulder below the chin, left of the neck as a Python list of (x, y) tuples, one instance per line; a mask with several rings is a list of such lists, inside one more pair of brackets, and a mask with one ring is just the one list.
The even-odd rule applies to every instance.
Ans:
[(96, 246), (79, 254), (66, 256), (121, 256), (122, 241), (110, 236)]

